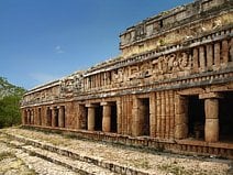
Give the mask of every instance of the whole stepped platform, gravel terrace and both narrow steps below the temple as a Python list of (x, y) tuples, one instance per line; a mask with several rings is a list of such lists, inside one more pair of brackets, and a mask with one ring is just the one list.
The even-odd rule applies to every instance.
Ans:
[(232, 164), (232, 160), (152, 154), (35, 130), (4, 129), (0, 134), (5, 138), (0, 142), (81, 175), (222, 175)]

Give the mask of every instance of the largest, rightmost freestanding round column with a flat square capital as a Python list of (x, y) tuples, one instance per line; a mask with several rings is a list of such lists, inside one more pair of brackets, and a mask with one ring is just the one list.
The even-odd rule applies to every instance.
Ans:
[(200, 99), (204, 99), (204, 140), (206, 142), (219, 141), (219, 98), (221, 96), (215, 92), (200, 95)]

